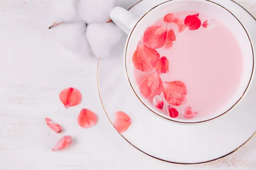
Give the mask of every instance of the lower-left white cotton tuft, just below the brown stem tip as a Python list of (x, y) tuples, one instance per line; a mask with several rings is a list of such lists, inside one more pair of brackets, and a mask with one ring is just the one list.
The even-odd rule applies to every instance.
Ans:
[(58, 43), (68, 51), (84, 57), (93, 56), (85, 34), (85, 23), (62, 23), (51, 31)]

